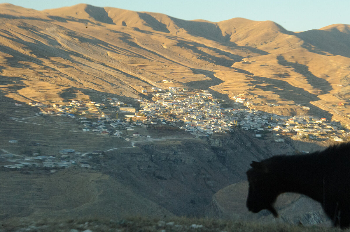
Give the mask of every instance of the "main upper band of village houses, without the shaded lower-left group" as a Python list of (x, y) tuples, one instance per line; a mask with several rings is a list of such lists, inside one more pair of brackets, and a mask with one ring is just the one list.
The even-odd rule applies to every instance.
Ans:
[[(158, 88), (154, 90), (160, 91)], [(244, 94), (234, 97), (236, 102), (246, 105)], [(69, 105), (53, 105), (55, 110), (61, 114), (68, 114), (75, 117), (79, 114), (91, 114), (96, 111), (98, 122), (82, 120), (84, 131), (92, 131), (105, 135), (121, 135), (120, 129), (133, 130), (129, 121), (123, 119), (111, 119), (101, 113), (106, 106), (118, 107), (118, 110), (130, 112), (126, 117), (137, 117), (137, 114), (147, 116), (146, 120), (133, 120), (133, 124), (147, 126), (147, 124), (177, 125), (188, 132), (197, 134), (227, 133), (233, 126), (240, 126), (245, 130), (254, 130), (256, 136), (261, 137), (264, 130), (285, 134), (292, 134), (293, 137), (310, 137), (319, 139), (334, 139), (342, 141), (349, 137), (339, 123), (327, 122), (324, 118), (317, 119), (311, 116), (285, 117), (276, 114), (268, 114), (258, 110), (248, 110), (240, 105), (237, 108), (223, 108), (221, 99), (215, 99), (208, 90), (189, 91), (181, 87), (169, 87), (154, 95), (153, 101), (144, 98), (136, 99), (140, 102), (140, 111), (137, 112), (131, 104), (120, 102), (117, 98), (102, 99), (104, 103), (90, 101), (71, 100)], [(32, 104), (43, 107), (41, 103)], [(78, 111), (78, 112), (77, 112)], [(75, 114), (73, 114), (75, 112)], [(50, 113), (50, 112), (49, 112)], [(80, 119), (86, 119), (81, 117)], [(180, 122), (180, 123), (178, 123)], [(118, 130), (116, 129), (118, 128)], [(261, 134), (259, 133), (261, 132)]]

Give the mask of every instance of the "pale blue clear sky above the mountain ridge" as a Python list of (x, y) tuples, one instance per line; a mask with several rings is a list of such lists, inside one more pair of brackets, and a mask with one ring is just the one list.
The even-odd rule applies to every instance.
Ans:
[(3, 2), (36, 10), (87, 3), (212, 22), (243, 17), (271, 20), (289, 31), (319, 29), (335, 23), (350, 24), (350, 0), (0, 0)]

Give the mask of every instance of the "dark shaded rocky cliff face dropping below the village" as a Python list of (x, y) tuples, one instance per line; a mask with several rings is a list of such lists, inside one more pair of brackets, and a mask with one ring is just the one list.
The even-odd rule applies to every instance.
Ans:
[(272, 150), (268, 141), (239, 131), (137, 146), (107, 152), (100, 170), (179, 216), (204, 216), (218, 190), (245, 180), (252, 160), (295, 149), (285, 143)]

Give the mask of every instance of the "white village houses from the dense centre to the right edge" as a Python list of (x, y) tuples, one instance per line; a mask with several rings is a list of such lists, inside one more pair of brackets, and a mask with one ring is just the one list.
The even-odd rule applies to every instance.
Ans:
[[(349, 137), (348, 132), (340, 129), (342, 127), (339, 123), (327, 121), (325, 118), (286, 117), (244, 108), (222, 108), (221, 100), (214, 99), (206, 90), (186, 96), (181, 88), (169, 88), (169, 92), (157, 93), (155, 97), (155, 102), (140, 100), (141, 111), (148, 116), (162, 119), (163, 123), (168, 121), (172, 124), (176, 120), (181, 120), (186, 125), (181, 128), (189, 132), (227, 133), (232, 130), (232, 126), (240, 126), (245, 130), (254, 130), (257, 132), (257, 137), (261, 137), (264, 130), (289, 134), (293, 137), (335, 141)], [(236, 102), (245, 101), (243, 94), (235, 96), (235, 99)]]

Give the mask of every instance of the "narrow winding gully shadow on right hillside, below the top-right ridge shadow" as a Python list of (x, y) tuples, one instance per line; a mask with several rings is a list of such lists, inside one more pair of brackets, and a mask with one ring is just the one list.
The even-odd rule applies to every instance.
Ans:
[(327, 94), (332, 90), (330, 83), (323, 78), (317, 77), (309, 71), (309, 67), (300, 63), (289, 62), (284, 59), (282, 55), (277, 57), (278, 64), (286, 67), (291, 67), (297, 73), (306, 77), (308, 83), (321, 92), (321, 94)]

